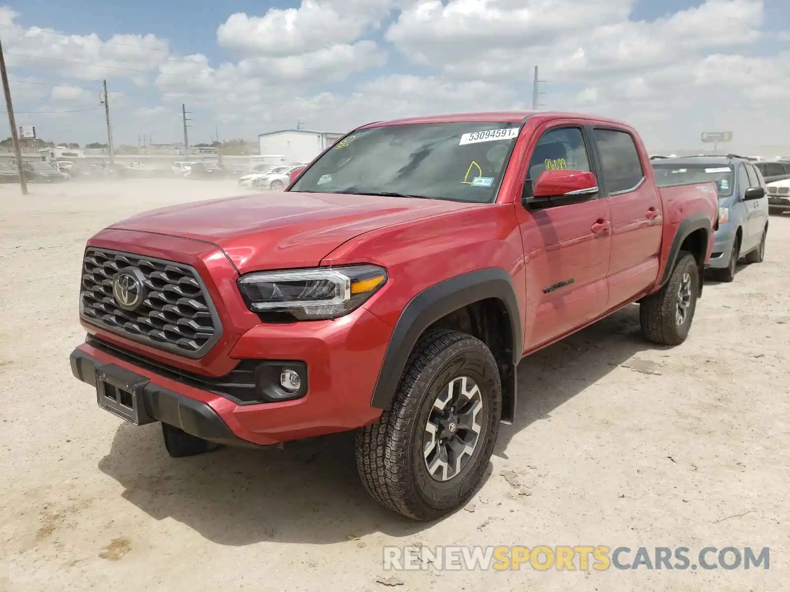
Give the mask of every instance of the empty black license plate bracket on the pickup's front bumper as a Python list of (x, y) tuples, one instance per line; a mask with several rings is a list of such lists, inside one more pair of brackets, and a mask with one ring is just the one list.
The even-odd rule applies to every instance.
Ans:
[(145, 409), (143, 389), (149, 379), (115, 364), (96, 368), (96, 403), (134, 425), (156, 422)]

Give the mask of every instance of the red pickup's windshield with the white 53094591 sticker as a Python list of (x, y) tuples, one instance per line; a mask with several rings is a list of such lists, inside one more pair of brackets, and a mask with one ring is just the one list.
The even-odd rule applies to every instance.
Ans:
[(494, 200), (513, 122), (407, 124), (361, 129), (325, 152), (291, 191)]

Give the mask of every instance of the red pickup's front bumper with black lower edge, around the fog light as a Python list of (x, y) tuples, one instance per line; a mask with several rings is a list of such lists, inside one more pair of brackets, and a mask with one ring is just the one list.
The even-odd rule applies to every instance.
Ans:
[[(267, 403), (245, 403), (228, 395), (224, 392), (228, 375), (198, 382), (194, 372), (179, 371), (172, 364), (164, 365), (141, 354), (134, 354), (134, 358), (95, 347), (93, 342), (82, 343), (74, 350), (72, 369), (75, 377), (95, 387), (97, 368), (119, 366), (148, 380), (143, 392), (150, 394), (142, 399), (152, 418), (222, 444), (270, 445), (374, 422), (382, 410), (371, 407), (371, 395), (391, 335), (389, 325), (363, 308), (337, 320), (250, 328), (228, 352), (228, 362), (290, 360), (307, 366), (307, 392), (303, 397)], [(167, 415), (156, 407), (155, 399), (168, 402)], [(196, 415), (200, 422), (192, 419)]]

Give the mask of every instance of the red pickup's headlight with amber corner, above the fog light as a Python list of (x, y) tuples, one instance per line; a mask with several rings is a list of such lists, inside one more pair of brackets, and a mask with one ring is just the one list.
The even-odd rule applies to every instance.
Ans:
[(387, 281), (377, 265), (256, 272), (239, 278), (255, 313), (289, 313), (297, 320), (333, 319), (350, 313)]

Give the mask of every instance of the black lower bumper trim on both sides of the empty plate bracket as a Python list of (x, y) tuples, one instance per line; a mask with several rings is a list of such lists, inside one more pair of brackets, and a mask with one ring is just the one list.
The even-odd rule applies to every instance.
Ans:
[[(73, 350), (69, 358), (74, 377), (95, 388), (96, 369), (105, 364), (80, 350)], [(141, 380), (149, 380), (142, 375), (136, 376), (139, 376)], [(260, 444), (254, 444), (254, 442), (236, 436), (228, 424), (223, 422), (216, 411), (206, 403), (179, 395), (177, 392), (160, 387), (150, 381), (142, 388), (141, 399), (149, 416), (167, 425), (180, 428), (193, 436), (226, 446), (261, 448)]]

